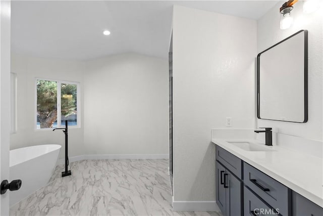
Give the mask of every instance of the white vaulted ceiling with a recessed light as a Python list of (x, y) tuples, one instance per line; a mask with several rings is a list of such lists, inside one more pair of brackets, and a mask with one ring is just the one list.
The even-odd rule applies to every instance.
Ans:
[(126, 52), (167, 58), (174, 4), (257, 20), (277, 2), (12, 1), (12, 52), (74, 60)]

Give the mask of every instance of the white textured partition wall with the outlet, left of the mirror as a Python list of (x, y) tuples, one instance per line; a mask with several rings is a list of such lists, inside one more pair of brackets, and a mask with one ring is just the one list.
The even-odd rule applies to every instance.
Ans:
[(216, 200), (211, 128), (254, 127), (255, 57), (256, 21), (174, 6), (175, 202)]

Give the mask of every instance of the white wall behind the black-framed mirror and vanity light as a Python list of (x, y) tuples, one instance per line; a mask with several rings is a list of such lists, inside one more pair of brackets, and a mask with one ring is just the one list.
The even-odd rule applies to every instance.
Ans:
[[(283, 3), (284, 1), (278, 3), (257, 21), (257, 52), (262, 52), (298, 30), (308, 30), (308, 122), (293, 123), (258, 119), (257, 125), (273, 127), (275, 131), (281, 134), (322, 141), (323, 10), (303, 14), (303, 2), (299, 1), (294, 5), (291, 12), (294, 16), (294, 25), (289, 29), (281, 30), (279, 8)], [(283, 145), (284, 143), (280, 144)], [(303, 143), (303, 145), (307, 144)]]

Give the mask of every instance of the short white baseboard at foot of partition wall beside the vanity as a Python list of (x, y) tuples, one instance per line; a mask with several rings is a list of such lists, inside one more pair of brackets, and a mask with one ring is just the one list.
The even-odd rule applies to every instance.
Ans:
[(173, 211), (220, 211), (216, 201), (173, 201)]

